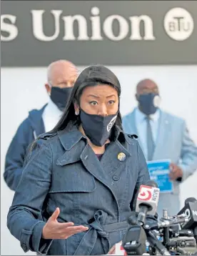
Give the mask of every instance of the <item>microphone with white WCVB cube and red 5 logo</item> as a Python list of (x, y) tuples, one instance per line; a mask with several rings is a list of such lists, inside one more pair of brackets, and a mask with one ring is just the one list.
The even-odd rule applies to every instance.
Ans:
[(158, 185), (152, 180), (146, 182), (146, 185), (141, 185), (136, 202), (137, 222), (139, 225), (145, 223), (147, 213), (148, 215), (156, 215), (159, 191)]

